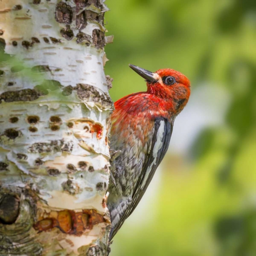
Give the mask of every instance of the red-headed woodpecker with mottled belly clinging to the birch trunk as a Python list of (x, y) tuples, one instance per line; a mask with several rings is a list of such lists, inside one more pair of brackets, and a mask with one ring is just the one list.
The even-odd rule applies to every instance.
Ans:
[(110, 242), (144, 195), (190, 96), (190, 82), (179, 71), (129, 67), (145, 79), (147, 90), (117, 100), (111, 114)]

